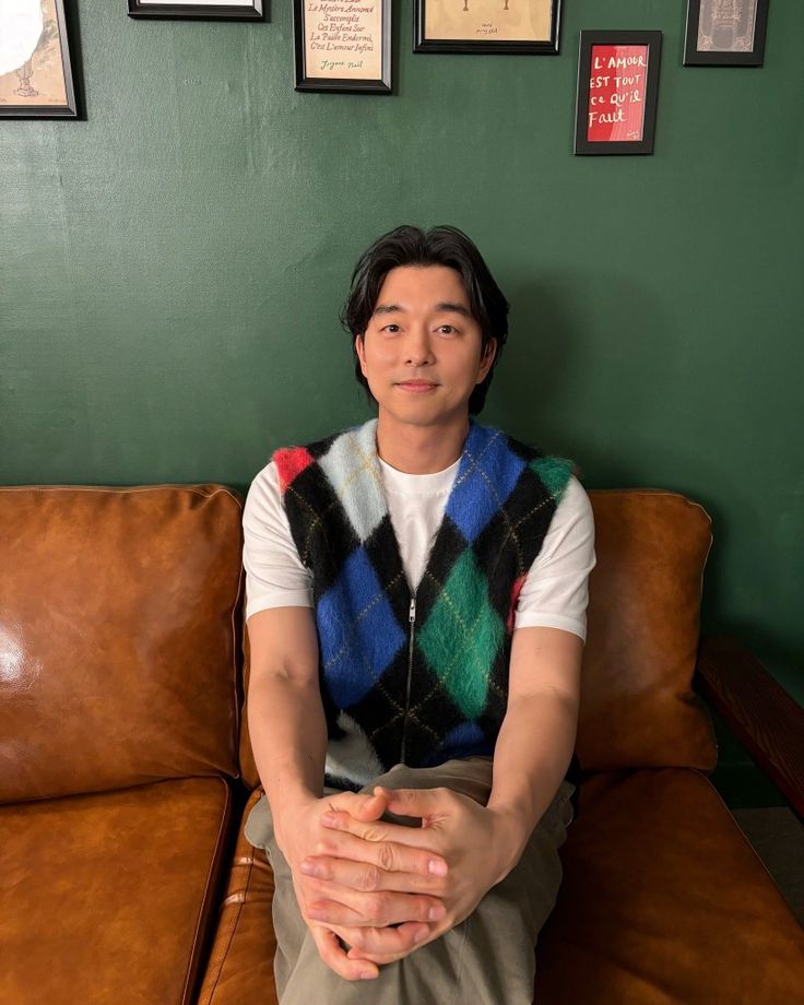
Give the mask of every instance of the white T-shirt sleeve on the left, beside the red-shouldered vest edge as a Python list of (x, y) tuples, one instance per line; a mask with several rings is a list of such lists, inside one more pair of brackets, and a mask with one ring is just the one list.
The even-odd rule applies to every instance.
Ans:
[(246, 619), (269, 607), (311, 607), (312, 574), (294, 544), (273, 461), (251, 482), (243, 536)]

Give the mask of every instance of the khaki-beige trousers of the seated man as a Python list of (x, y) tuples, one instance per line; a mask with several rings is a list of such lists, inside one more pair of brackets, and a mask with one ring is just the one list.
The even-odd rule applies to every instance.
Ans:
[[(460, 758), (435, 768), (397, 765), (362, 791), (370, 793), (375, 784), (442, 785), (485, 805), (492, 791), (492, 765), (490, 757)], [(274, 977), (280, 1005), (531, 1005), (534, 947), (561, 883), (558, 848), (572, 819), (574, 791), (571, 782), (561, 782), (519, 863), (464, 921), (405, 959), (380, 967), (379, 977), (371, 981), (347, 981), (318, 955), (298, 910), (287, 862), (274, 841), (263, 793), (249, 814), (245, 835), (265, 851), (274, 873)], [(383, 819), (404, 821), (391, 814)]]

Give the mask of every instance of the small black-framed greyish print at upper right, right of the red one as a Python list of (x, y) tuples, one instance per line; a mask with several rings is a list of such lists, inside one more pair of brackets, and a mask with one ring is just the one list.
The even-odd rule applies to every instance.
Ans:
[(685, 67), (761, 67), (768, 0), (687, 0)]

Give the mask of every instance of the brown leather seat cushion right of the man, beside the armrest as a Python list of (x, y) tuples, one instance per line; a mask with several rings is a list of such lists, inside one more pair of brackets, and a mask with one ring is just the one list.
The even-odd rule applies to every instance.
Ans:
[(709, 779), (594, 775), (560, 850), (536, 951), (536, 1001), (795, 1001), (804, 932)]

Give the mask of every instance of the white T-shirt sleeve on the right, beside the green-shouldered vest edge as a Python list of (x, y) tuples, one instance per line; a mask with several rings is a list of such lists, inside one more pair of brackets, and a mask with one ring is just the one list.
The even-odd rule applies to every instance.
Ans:
[(595, 564), (592, 504), (571, 475), (520, 591), (515, 628), (564, 628), (586, 642), (589, 574)]

